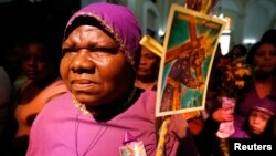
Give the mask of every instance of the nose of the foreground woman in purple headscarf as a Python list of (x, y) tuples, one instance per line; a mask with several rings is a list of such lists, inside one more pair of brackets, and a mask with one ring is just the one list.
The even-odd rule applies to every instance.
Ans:
[(71, 63), (71, 69), (76, 73), (95, 72), (95, 64), (88, 51), (79, 51)]

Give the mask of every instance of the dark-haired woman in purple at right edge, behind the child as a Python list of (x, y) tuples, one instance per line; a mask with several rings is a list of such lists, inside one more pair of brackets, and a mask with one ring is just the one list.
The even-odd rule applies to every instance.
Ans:
[(253, 69), (253, 85), (244, 93), (243, 100), (237, 101), (234, 112), (235, 133), (233, 138), (243, 137), (243, 124), (250, 115), (252, 104), (265, 98), (276, 96), (276, 46), (269, 42), (257, 42), (250, 50), (245, 63)]

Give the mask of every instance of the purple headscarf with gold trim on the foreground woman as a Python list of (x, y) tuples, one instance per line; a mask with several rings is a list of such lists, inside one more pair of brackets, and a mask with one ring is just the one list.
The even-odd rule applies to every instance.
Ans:
[(74, 13), (66, 24), (64, 40), (73, 31), (71, 28), (79, 17), (91, 17), (113, 35), (126, 60), (135, 69), (139, 62), (141, 38), (140, 25), (130, 9), (106, 2), (91, 3)]

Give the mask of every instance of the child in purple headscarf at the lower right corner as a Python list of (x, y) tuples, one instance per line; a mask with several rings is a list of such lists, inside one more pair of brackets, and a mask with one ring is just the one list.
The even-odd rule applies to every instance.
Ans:
[[(235, 155), (235, 143), (251, 143), (251, 144), (265, 144), (270, 147), (276, 143), (276, 137), (273, 134), (274, 116), (276, 113), (276, 98), (274, 96), (266, 96), (252, 103), (250, 114), (243, 125), (244, 132), (240, 131), (240, 137), (229, 139), (230, 155)], [(270, 148), (269, 147), (269, 148)], [(269, 156), (273, 155), (269, 149)], [(267, 155), (267, 154), (265, 154)]]

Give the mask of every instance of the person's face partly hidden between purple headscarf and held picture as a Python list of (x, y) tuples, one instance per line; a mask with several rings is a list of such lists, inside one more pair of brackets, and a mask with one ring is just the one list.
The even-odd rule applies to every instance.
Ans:
[(139, 67), (136, 72), (135, 85), (145, 90), (157, 90), (160, 58), (141, 46), (141, 58)]

